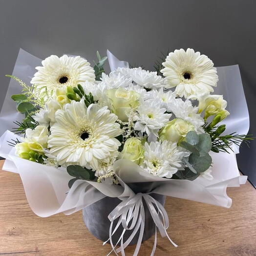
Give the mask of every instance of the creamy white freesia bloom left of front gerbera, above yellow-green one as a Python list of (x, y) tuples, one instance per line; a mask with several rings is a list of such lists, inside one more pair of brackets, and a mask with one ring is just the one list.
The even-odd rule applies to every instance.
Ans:
[(47, 140), (48, 140), (48, 129), (45, 126), (37, 126), (34, 130), (28, 128), (26, 129), (26, 134), (24, 141), (25, 142), (37, 142), (43, 148), (47, 147)]

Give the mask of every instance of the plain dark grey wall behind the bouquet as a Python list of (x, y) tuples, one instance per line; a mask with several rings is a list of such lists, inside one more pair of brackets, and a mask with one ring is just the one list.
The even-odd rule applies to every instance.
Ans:
[[(239, 64), (256, 135), (255, 10), (254, 0), (0, 0), (0, 107), (20, 47), (41, 59), (68, 53), (90, 62), (108, 48), (149, 70), (160, 51), (191, 47), (215, 66)], [(253, 142), (237, 157), (251, 179), (255, 155)]]

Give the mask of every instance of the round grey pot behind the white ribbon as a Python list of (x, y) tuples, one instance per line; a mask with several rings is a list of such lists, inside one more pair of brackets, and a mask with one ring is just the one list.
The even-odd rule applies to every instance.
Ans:
[[(152, 189), (152, 182), (141, 182), (141, 183), (132, 183), (128, 186), (135, 192), (150, 192)], [(159, 201), (162, 205), (165, 203), (166, 196), (160, 194), (150, 194), (154, 199)], [(107, 241), (109, 238), (109, 227), (110, 221), (107, 218), (108, 214), (113, 211), (113, 209), (121, 203), (121, 200), (117, 197), (105, 197), (100, 201), (91, 204), (83, 209), (83, 219), (87, 229), (92, 235), (97, 237), (102, 241)], [(149, 213), (149, 209), (146, 205), (146, 202), (143, 202), (145, 209), (145, 229), (142, 241), (149, 239), (155, 233), (155, 224)], [(117, 224), (117, 219), (114, 221), (113, 227)], [(114, 235), (112, 235), (113, 244), (116, 244), (123, 232), (122, 224), (119, 226)], [(124, 235), (124, 241), (131, 235), (132, 230), (127, 230)], [(136, 235), (133, 237), (129, 245), (136, 244), (139, 237), (139, 230)], [(120, 245), (120, 243), (119, 243)]]

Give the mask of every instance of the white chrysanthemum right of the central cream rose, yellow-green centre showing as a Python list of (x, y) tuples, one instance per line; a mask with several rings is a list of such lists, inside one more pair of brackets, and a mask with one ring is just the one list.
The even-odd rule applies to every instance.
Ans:
[(167, 114), (166, 109), (161, 107), (159, 102), (145, 101), (137, 108), (137, 122), (134, 129), (146, 132), (149, 140), (158, 138), (158, 131), (170, 120), (171, 114)]

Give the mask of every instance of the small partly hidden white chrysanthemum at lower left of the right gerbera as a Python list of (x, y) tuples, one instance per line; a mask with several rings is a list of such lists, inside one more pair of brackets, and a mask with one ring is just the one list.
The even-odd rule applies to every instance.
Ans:
[(175, 100), (175, 93), (170, 91), (164, 91), (163, 87), (159, 90), (149, 91), (149, 99), (151, 100), (159, 100), (161, 102), (161, 106), (165, 107), (167, 111), (171, 111), (170, 104), (173, 100)]

